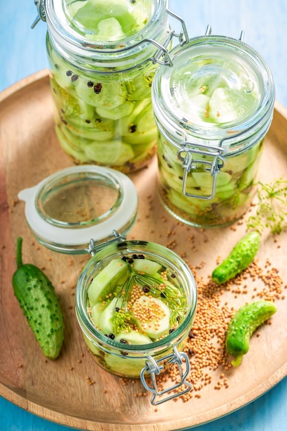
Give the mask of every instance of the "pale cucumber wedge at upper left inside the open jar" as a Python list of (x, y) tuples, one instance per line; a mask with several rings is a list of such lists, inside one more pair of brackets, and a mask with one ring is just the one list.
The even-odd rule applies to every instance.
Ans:
[(124, 280), (127, 280), (128, 275), (129, 269), (126, 262), (119, 258), (111, 260), (89, 285), (87, 295), (90, 306), (100, 301), (100, 298), (105, 299), (119, 283), (123, 284)]

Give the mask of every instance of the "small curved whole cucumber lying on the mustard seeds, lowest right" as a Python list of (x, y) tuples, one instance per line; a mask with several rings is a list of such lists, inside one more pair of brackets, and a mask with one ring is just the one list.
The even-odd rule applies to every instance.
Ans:
[(236, 357), (233, 366), (240, 365), (243, 355), (249, 350), (249, 340), (258, 326), (268, 320), (277, 308), (274, 302), (257, 301), (242, 306), (228, 324), (226, 332), (226, 351)]

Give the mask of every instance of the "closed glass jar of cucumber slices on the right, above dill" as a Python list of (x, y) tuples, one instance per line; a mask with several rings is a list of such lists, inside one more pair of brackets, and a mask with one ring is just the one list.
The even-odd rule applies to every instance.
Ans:
[(255, 195), (275, 89), (262, 56), (242, 39), (205, 36), (170, 52), (153, 81), (159, 194), (178, 220), (219, 227)]

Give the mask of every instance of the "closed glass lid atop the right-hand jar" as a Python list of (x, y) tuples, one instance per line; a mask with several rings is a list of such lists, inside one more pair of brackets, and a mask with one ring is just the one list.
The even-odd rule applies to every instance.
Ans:
[(275, 90), (262, 56), (242, 40), (208, 34), (170, 52), (158, 67), (153, 108), (167, 129), (219, 140), (259, 129), (273, 110)]

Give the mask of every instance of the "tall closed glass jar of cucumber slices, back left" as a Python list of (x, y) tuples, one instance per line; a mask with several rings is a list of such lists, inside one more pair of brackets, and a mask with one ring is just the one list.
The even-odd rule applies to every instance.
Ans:
[(125, 173), (156, 152), (151, 83), (169, 63), (167, 0), (40, 0), (56, 135), (76, 164)]

